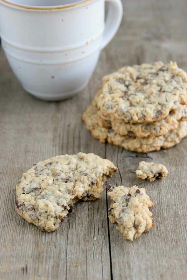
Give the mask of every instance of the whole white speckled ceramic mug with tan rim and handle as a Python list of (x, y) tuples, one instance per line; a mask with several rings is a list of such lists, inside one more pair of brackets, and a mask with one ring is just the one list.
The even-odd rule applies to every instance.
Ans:
[(106, 0), (106, 23), (105, 0), (72, 1), (0, 0), (8, 62), (23, 88), (44, 100), (65, 99), (83, 89), (121, 23), (120, 0)]

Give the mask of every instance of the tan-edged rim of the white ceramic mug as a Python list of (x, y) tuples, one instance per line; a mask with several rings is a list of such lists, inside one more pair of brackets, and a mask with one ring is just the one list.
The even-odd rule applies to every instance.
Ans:
[(58, 5), (58, 6), (30, 6), (30, 5), (14, 3), (14, 2), (11, 2), (8, 0), (0, 0), (0, 4), (6, 5), (6, 6), (11, 6), (13, 8), (28, 9), (28, 10), (61, 10), (61, 9), (80, 6), (80, 5), (83, 5), (86, 3), (90, 3), (92, 1), (95, 1), (95, 0), (81, 0), (78, 2), (71, 3), (71, 4)]

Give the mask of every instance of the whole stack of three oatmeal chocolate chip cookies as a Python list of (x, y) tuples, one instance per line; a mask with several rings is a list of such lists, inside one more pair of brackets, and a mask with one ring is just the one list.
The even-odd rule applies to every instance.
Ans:
[(187, 73), (175, 62), (125, 66), (103, 78), (82, 120), (101, 142), (149, 152), (187, 135), (186, 104)]

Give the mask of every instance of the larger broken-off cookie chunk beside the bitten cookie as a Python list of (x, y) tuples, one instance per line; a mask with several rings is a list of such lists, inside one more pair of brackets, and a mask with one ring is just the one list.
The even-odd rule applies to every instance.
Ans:
[(108, 209), (111, 223), (125, 240), (133, 240), (152, 227), (152, 213), (149, 208), (154, 205), (144, 188), (111, 187), (108, 196), (112, 202)]

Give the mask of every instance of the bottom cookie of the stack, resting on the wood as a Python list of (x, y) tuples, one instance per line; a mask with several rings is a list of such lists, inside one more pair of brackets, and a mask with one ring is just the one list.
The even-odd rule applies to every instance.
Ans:
[(170, 148), (187, 135), (187, 121), (180, 121), (175, 131), (168, 132), (164, 136), (139, 138), (120, 135), (111, 129), (98, 125), (97, 109), (92, 105), (88, 106), (83, 113), (82, 120), (85, 122), (86, 128), (91, 131), (92, 136), (101, 142), (108, 141), (110, 144), (140, 153)]

